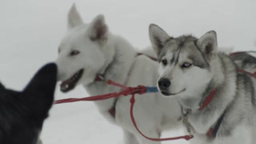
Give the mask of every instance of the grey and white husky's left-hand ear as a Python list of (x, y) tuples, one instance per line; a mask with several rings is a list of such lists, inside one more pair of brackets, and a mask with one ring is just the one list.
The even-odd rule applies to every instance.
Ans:
[(156, 54), (160, 54), (162, 48), (165, 46), (166, 42), (170, 40), (170, 36), (166, 34), (159, 26), (150, 24), (150, 42), (153, 46)]

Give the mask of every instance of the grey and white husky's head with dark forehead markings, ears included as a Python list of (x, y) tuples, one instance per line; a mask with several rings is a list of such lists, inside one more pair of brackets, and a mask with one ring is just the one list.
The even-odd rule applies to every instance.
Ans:
[(158, 89), (163, 95), (183, 97), (206, 89), (213, 78), (210, 62), (217, 48), (215, 32), (199, 39), (191, 35), (170, 38), (160, 27), (150, 25), (150, 41), (161, 63)]

